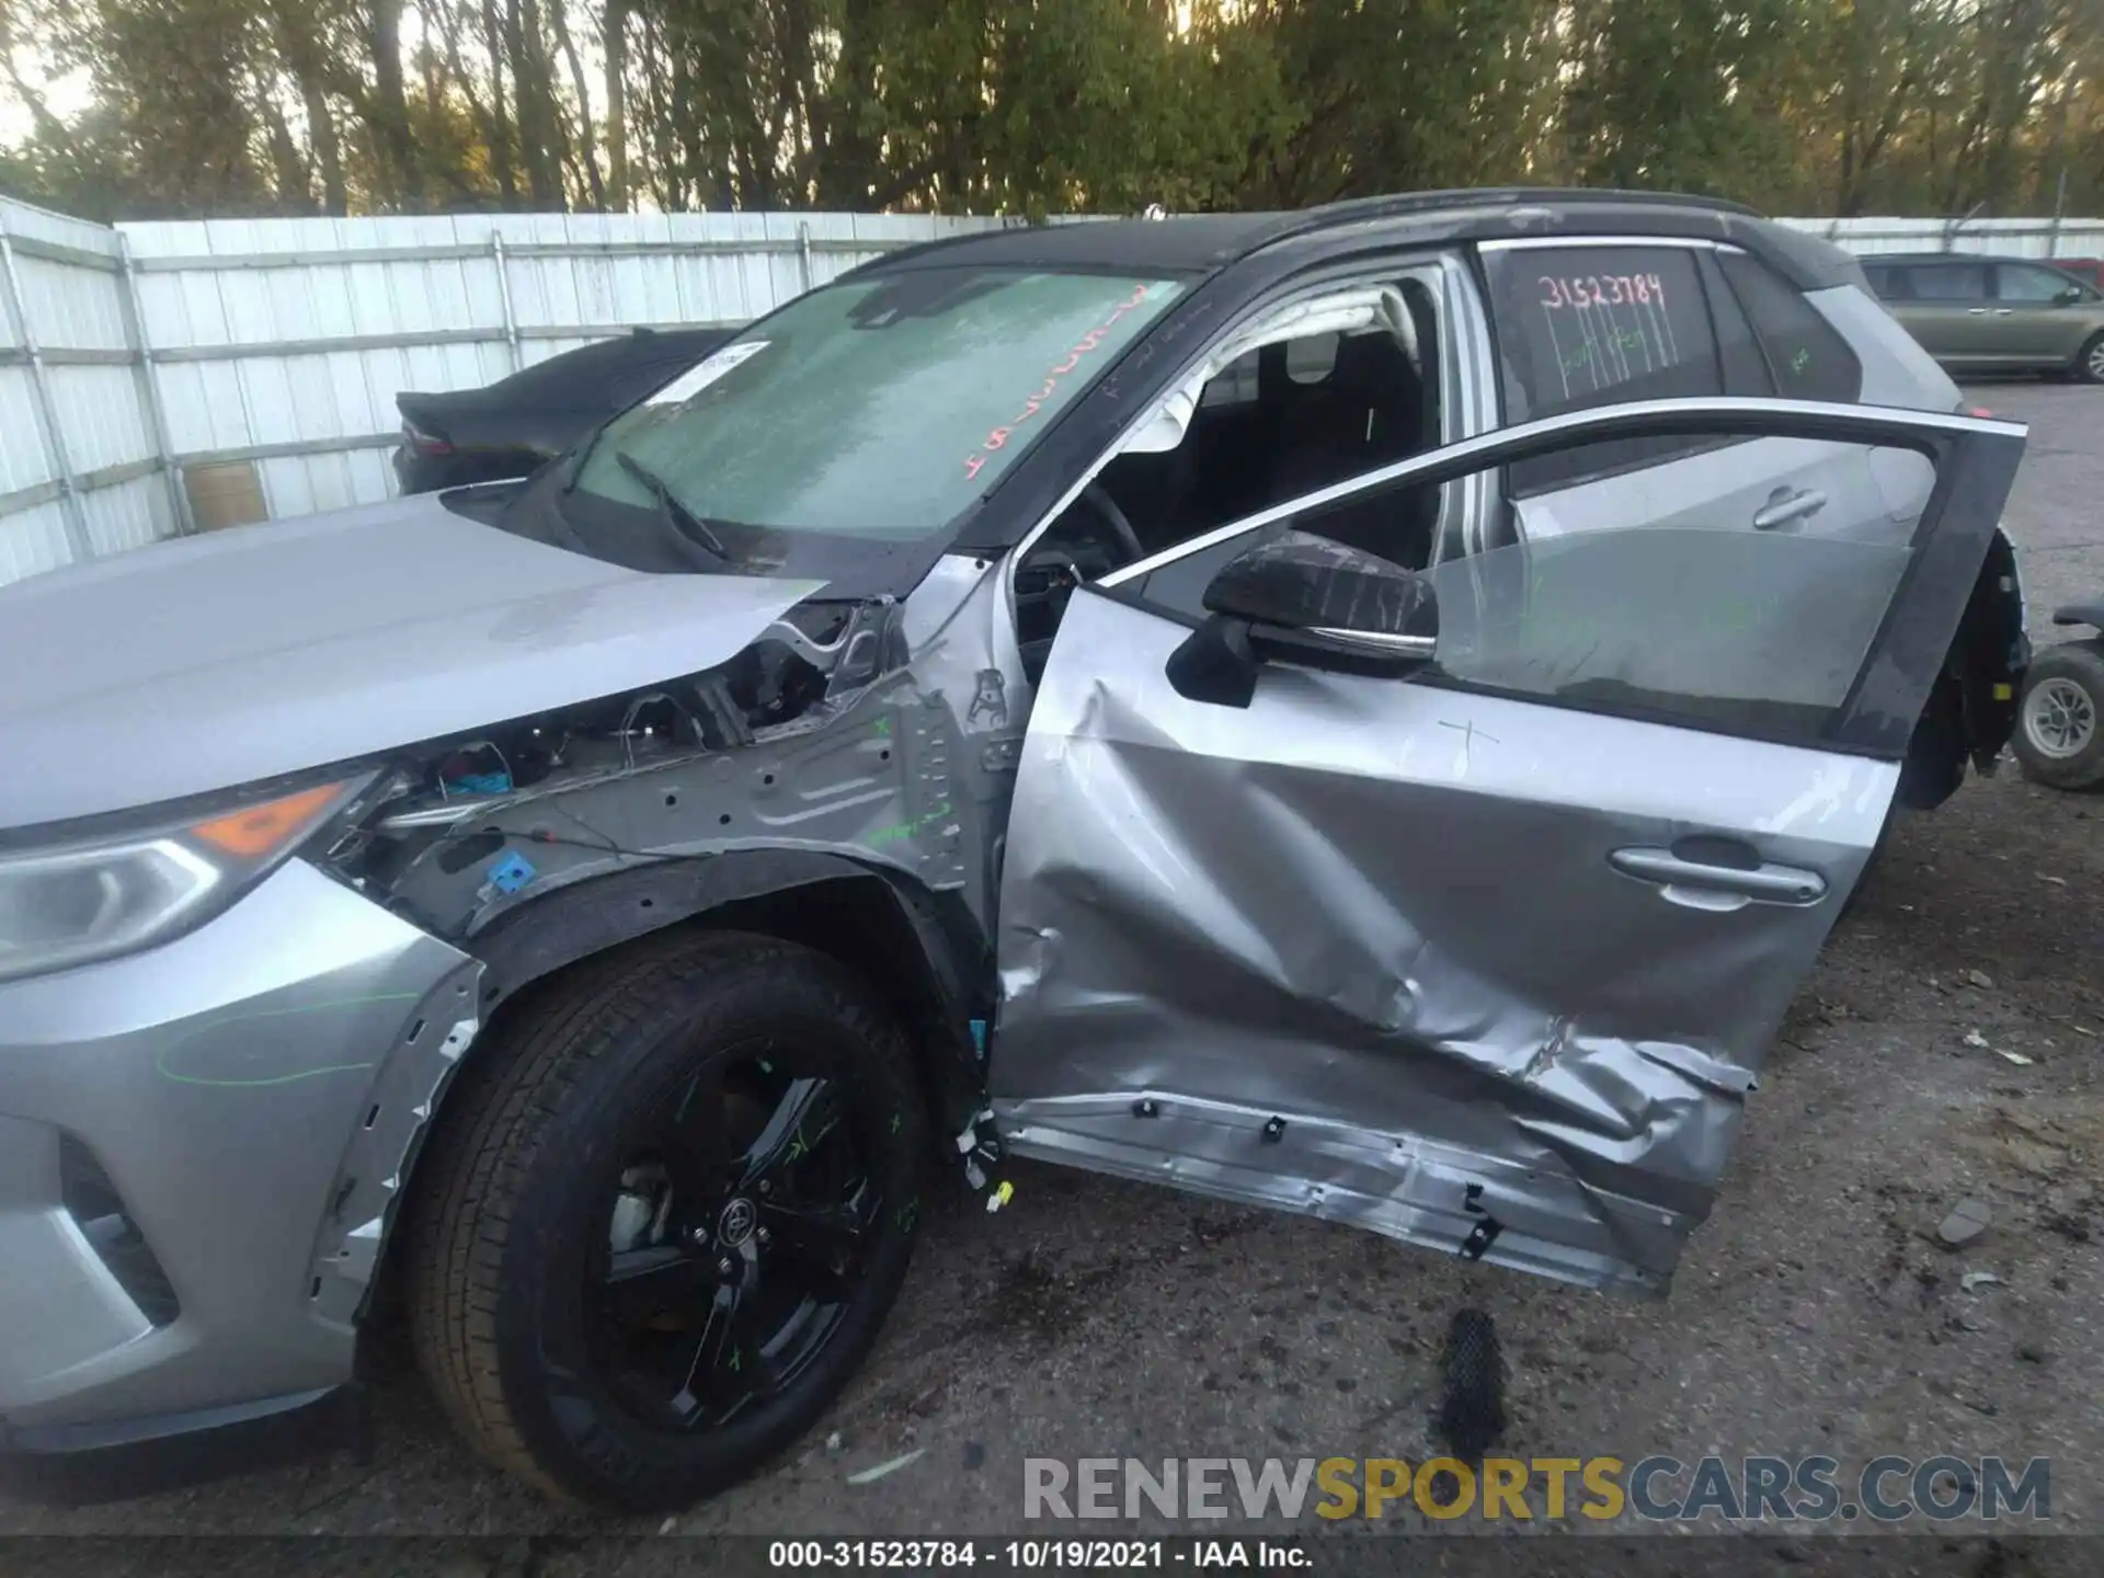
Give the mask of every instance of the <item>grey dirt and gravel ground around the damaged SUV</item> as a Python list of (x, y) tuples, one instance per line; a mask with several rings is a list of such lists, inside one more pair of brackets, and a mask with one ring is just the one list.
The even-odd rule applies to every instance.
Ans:
[[(2049, 606), (2104, 591), (2104, 389), (1976, 398), (2032, 423), (2009, 528), (2035, 640), (2056, 640)], [(1664, 1302), (1033, 1168), (999, 1216), (938, 1212), (831, 1418), (682, 1519), (547, 1506), (478, 1464), (383, 1349), (370, 1466), (0, 1504), (0, 1534), (1014, 1534), (1025, 1456), (1427, 1456), (1462, 1302), (1504, 1340), (1506, 1452), (2049, 1456), (2054, 1523), (2104, 1532), (2100, 1071), (2104, 797), (2009, 766), (1896, 829)], [(1934, 1233), (1961, 1197), (1990, 1227), (1953, 1252)], [(1965, 1273), (1997, 1281), (1967, 1292)]]

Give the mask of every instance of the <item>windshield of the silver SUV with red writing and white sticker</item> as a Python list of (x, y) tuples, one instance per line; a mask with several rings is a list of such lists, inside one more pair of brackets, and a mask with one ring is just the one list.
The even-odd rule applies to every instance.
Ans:
[(928, 537), (1178, 290), (972, 267), (814, 290), (608, 423), (576, 492), (699, 520), (732, 551), (739, 528)]

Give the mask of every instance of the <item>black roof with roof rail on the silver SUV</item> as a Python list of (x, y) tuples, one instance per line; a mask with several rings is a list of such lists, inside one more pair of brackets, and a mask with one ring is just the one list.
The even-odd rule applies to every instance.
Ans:
[(1384, 244), (1488, 240), (1555, 231), (1681, 234), (1740, 240), (1784, 267), (1805, 288), (1847, 278), (1847, 255), (1816, 236), (1786, 229), (1744, 204), (1671, 191), (1576, 187), (1477, 187), (1403, 191), (1296, 213), (1180, 215), (1016, 225), (953, 236), (884, 255), (852, 276), (917, 267), (1147, 269), (1210, 274), (1265, 248), (1349, 227), (1378, 227)]

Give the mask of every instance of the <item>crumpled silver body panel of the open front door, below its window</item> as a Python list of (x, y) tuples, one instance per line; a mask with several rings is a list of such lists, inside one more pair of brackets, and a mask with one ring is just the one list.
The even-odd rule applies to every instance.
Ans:
[[(1164, 677), (1185, 635), (1084, 591), (1044, 675), (1008, 1147), (1662, 1292), (1896, 768), (1281, 667), (1212, 707)], [(1692, 835), (1828, 898), (1690, 905), (1610, 861)]]

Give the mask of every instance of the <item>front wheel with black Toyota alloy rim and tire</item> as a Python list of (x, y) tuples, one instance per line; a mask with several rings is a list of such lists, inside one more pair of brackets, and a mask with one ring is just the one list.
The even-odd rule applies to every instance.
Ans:
[(911, 1048), (839, 964), (743, 934), (635, 945), (520, 1010), (417, 1180), (419, 1365), (541, 1490), (688, 1506), (808, 1431), (898, 1296), (928, 1155)]

